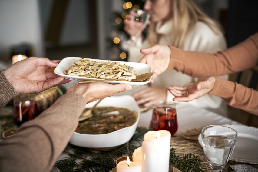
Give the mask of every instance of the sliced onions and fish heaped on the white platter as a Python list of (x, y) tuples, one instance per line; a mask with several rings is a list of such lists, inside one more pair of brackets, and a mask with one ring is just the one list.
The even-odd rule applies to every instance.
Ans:
[(120, 62), (97, 62), (88, 58), (79, 58), (63, 72), (70, 76), (98, 79), (136, 79), (135, 68)]

